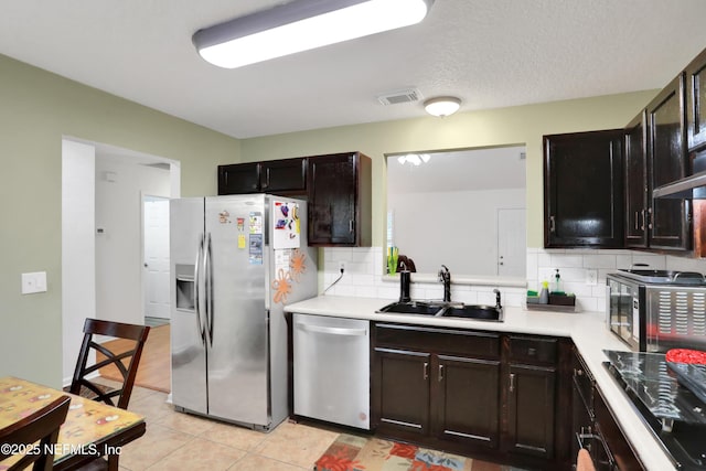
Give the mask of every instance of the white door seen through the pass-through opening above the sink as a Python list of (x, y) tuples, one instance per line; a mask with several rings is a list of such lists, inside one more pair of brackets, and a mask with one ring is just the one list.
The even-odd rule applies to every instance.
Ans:
[(527, 259), (524, 208), (498, 210), (498, 275), (525, 277)]

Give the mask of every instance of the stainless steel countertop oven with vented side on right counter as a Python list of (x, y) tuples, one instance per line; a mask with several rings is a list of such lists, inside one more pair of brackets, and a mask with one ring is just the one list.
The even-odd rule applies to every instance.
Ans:
[(609, 329), (637, 351), (706, 349), (706, 279), (702, 274), (625, 269), (606, 283)]

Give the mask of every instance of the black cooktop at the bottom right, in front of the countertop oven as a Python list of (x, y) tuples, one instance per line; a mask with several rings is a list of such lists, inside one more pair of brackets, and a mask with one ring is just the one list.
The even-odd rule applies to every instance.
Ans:
[[(677, 381), (665, 355), (605, 351), (612, 374), (657, 438), (674, 467), (706, 470), (706, 404)], [(706, 378), (698, 370), (697, 382)], [(703, 386), (706, 386), (702, 384)]]

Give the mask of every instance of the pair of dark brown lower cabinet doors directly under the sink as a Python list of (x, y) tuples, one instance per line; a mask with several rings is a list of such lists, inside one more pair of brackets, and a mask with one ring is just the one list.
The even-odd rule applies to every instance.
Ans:
[(498, 445), (499, 361), (381, 347), (375, 355), (379, 432)]

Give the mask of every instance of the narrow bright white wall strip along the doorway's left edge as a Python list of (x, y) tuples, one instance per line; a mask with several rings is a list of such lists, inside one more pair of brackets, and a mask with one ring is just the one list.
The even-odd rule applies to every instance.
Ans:
[(86, 318), (96, 312), (95, 148), (62, 140), (62, 381), (76, 366)]

